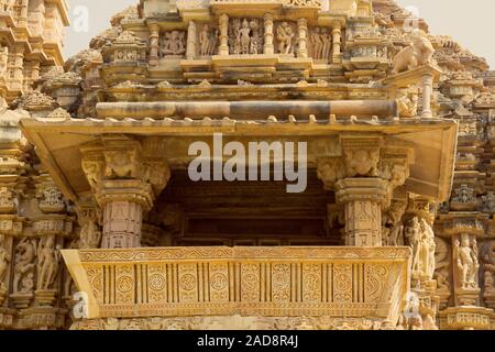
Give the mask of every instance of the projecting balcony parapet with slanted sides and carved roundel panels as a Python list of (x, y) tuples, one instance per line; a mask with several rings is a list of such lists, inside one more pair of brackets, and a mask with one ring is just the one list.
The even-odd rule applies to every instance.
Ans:
[(346, 317), (397, 322), (408, 248), (67, 250), (89, 317)]

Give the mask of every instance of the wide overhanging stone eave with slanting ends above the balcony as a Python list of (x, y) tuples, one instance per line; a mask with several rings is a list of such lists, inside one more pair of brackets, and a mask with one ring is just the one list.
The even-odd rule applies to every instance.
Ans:
[[(440, 119), (410, 119), (399, 121), (346, 121), (311, 124), (311, 123), (265, 123), (265, 122), (237, 122), (234, 120), (211, 120), (209, 124), (205, 121), (186, 120), (66, 120), (50, 121), (47, 119), (22, 119), (20, 127), (26, 139), (36, 146), (37, 154), (44, 164), (44, 167), (53, 176), (55, 183), (72, 201), (77, 201), (79, 195), (89, 191), (76, 191), (72, 184), (74, 177), (84, 178), (80, 170), (78, 176), (66, 175), (61, 164), (61, 157), (56, 155), (57, 135), (70, 134), (73, 138), (65, 150), (72, 148), (78, 151), (79, 146), (92, 142), (105, 134), (132, 134), (139, 138), (146, 136), (209, 136), (213, 133), (224, 133), (230, 136), (297, 136), (312, 138), (322, 135), (339, 134), (381, 134), (391, 136), (394, 140), (404, 141), (413, 145), (415, 154), (428, 154), (431, 147), (429, 141), (431, 138), (439, 150), (435, 156), (435, 169), (431, 175), (439, 175), (438, 179), (432, 179), (431, 175), (417, 175), (415, 168), (411, 168), (411, 175), (406, 183), (406, 188), (418, 195), (430, 197), (437, 201), (446, 201), (451, 191), (454, 170), (454, 155), (457, 148), (458, 124), (453, 120)], [(421, 143), (420, 143), (421, 142)], [(418, 153), (419, 152), (419, 153)], [(80, 154), (65, 155), (64, 160), (80, 165)], [(424, 170), (420, 161), (416, 160), (415, 165), (419, 170)], [(429, 176), (429, 177), (428, 177)], [(78, 180), (79, 183), (81, 180)], [(84, 180), (86, 182), (86, 180)]]

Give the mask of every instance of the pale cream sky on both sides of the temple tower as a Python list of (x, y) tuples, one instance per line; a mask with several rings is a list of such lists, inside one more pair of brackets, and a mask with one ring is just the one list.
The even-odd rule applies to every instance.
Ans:
[[(139, 0), (67, 0), (72, 28), (65, 38), (65, 57), (87, 48), (95, 35), (110, 26), (110, 18)], [(485, 57), (495, 69), (495, 0), (397, 0), (403, 7), (416, 7), (432, 34), (451, 35), (473, 54)], [(89, 25), (77, 31), (80, 7), (86, 7)], [(82, 30), (82, 31), (80, 31)]]

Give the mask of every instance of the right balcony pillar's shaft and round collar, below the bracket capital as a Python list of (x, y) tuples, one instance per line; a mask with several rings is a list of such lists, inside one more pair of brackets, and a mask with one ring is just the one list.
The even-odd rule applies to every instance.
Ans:
[(337, 182), (337, 201), (344, 205), (345, 212), (345, 245), (382, 246), (382, 204), (387, 187), (381, 178)]

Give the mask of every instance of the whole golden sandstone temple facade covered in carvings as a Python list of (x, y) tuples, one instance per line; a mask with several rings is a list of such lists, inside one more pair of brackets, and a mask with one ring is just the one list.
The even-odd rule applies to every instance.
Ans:
[[(483, 58), (393, 0), (141, 0), (64, 64), (63, 0), (1, 6), (1, 329), (494, 329)], [(306, 190), (195, 182), (219, 135)]]

